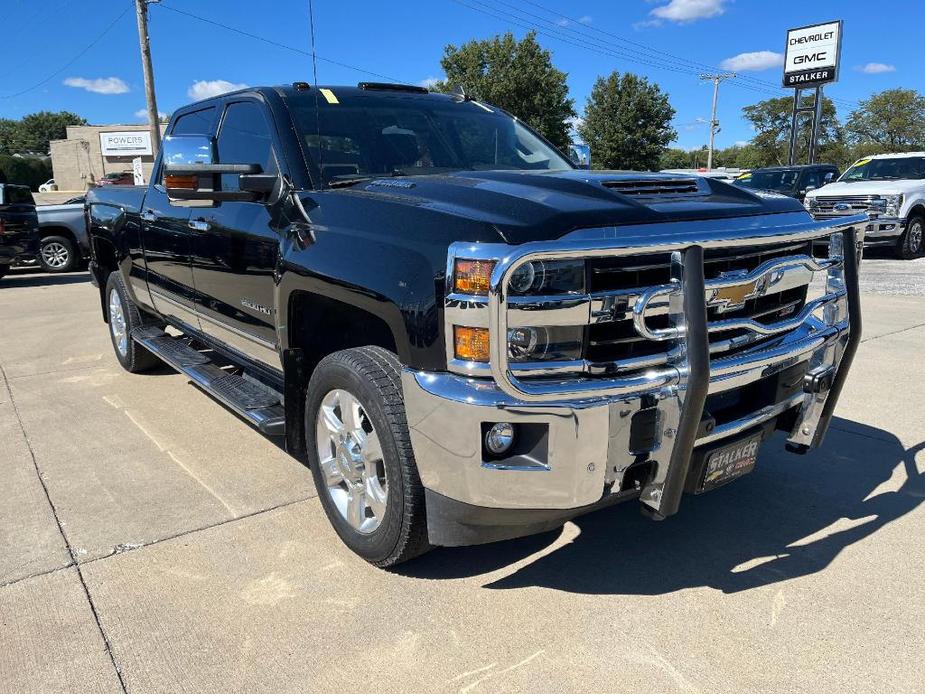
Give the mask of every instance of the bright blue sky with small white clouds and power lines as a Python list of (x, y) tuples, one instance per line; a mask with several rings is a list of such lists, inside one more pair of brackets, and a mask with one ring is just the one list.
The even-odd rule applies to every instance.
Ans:
[[(74, 111), (100, 124), (142, 121), (132, 5), (130, 0), (3, 0), (0, 117), (47, 109)], [(697, 79), (698, 73), (705, 66), (736, 67), (743, 78), (724, 83), (720, 91), (717, 146), (725, 147), (751, 136), (741, 117), (743, 106), (788, 93), (776, 88), (781, 68), (775, 55), (783, 51), (788, 27), (845, 20), (840, 81), (826, 92), (837, 99), (842, 119), (876, 91), (925, 92), (919, 48), (925, 3), (898, 0), (879, 7), (884, 11), (860, 0), (315, 0), (318, 55), (334, 61), (319, 60), (319, 81), (382, 79), (336, 64), (343, 63), (423, 83), (441, 76), (447, 43), (506, 30), (522, 36), (535, 26), (555, 65), (568, 73), (579, 112), (596, 76), (612, 70), (645, 75), (668, 92), (677, 111), (677, 145), (685, 148), (707, 140), (711, 87)], [(150, 10), (162, 111), (229, 84), (311, 80), (306, 55), (169, 8), (309, 49), (308, 0), (163, 0)]]

